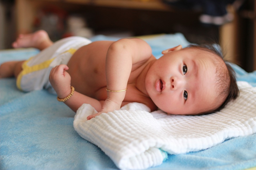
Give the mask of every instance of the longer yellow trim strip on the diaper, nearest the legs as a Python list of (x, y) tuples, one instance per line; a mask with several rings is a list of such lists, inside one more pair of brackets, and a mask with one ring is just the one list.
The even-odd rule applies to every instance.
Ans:
[(42, 62), (40, 64), (34, 65), (34, 66), (28, 66), (27, 62), (29, 62), (33, 57), (31, 57), (29, 60), (25, 61), (22, 64), (22, 71), (19, 73), (18, 77), (17, 77), (17, 81), (16, 81), (16, 86), (18, 87), (19, 90), (21, 89), (21, 78), (26, 75), (29, 74), (31, 72), (34, 71), (38, 71), (38, 70), (42, 70), (45, 69), (47, 67), (49, 67), (49, 65), (51, 64), (51, 62), (55, 59), (55, 58), (51, 58), (50, 60), (46, 60), (45, 62)]

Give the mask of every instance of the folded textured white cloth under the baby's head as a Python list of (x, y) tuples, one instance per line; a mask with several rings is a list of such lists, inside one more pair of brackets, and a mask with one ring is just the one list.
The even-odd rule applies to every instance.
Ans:
[(96, 113), (83, 104), (74, 119), (75, 130), (100, 147), (120, 169), (145, 169), (161, 164), (169, 154), (215, 146), (225, 139), (256, 133), (256, 87), (238, 82), (240, 95), (220, 112), (201, 116), (149, 113), (140, 103), (119, 111)]

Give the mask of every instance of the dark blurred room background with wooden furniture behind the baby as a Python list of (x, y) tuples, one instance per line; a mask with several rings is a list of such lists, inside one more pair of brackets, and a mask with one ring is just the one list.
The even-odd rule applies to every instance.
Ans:
[(256, 70), (256, 0), (0, 0), (0, 50), (20, 33), (68, 36), (182, 33), (191, 43), (218, 43), (226, 59)]

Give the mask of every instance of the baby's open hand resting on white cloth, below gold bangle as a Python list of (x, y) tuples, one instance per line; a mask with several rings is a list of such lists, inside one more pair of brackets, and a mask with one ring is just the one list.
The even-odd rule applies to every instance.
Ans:
[(88, 116), (87, 120), (90, 120), (91, 118), (94, 118), (94, 117), (100, 115), (101, 113), (107, 113), (107, 112), (112, 112), (114, 110), (119, 110), (120, 106), (121, 106), (121, 104), (118, 104), (114, 101), (111, 101), (109, 98), (107, 98), (102, 106), (101, 111)]

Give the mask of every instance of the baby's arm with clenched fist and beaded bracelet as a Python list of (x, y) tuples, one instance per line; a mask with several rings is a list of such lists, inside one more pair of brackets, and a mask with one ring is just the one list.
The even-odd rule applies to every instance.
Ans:
[[(71, 77), (69, 73), (66, 72), (68, 69), (69, 68), (66, 65), (56, 66), (51, 70), (49, 76), (49, 81), (60, 99), (67, 97), (71, 92)], [(70, 99), (66, 100), (64, 103), (74, 112), (76, 112), (83, 103), (90, 104), (97, 111), (100, 111), (102, 108), (101, 103), (103, 103), (103, 101), (98, 101), (77, 91), (74, 91), (74, 94), (70, 97)]]

